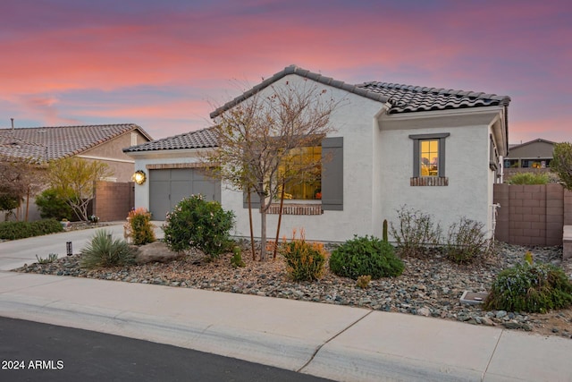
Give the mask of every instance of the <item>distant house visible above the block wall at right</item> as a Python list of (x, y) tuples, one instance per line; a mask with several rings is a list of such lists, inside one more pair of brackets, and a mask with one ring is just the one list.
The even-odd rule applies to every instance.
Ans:
[(518, 145), (509, 145), (509, 155), (503, 158), (505, 168), (550, 167), (556, 142), (538, 138)]

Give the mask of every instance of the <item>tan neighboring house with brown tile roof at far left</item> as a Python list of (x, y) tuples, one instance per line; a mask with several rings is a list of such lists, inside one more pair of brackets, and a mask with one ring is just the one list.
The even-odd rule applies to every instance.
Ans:
[[(134, 123), (0, 129), (0, 157), (38, 164), (66, 157), (98, 160), (114, 173), (106, 181), (127, 183), (131, 182), (134, 160), (122, 149), (149, 140), (152, 138), (147, 132)], [(39, 217), (35, 208), (30, 214), (30, 220)]]

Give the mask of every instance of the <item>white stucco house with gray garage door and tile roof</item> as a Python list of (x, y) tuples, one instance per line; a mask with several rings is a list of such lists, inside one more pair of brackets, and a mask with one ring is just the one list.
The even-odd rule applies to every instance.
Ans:
[[(287, 81), (315, 81), (332, 98), (343, 99), (343, 106), (331, 115), (337, 131), (305, 154), (329, 157), (321, 181), (287, 188), (292, 199), (284, 208), (281, 236), (304, 228), (309, 240), (381, 237), (383, 219), (397, 224), (403, 206), (433, 215), (445, 230), (467, 216), (492, 233), (492, 185), (500, 177), (499, 157), (508, 151), (509, 97), (384, 82), (349, 85), (292, 65), (211, 117), (216, 122), (244, 99), (257, 92), (268, 94)], [(206, 187), (200, 153), (214, 147), (214, 137), (205, 129), (125, 149), (135, 159), (136, 170), (148, 173), (148, 182), (136, 186), (136, 207), (149, 208), (155, 219), (162, 219), (181, 194)], [(184, 192), (179, 192), (181, 184)], [(210, 184), (207, 198), (220, 199), (223, 208), (233, 210), (234, 234), (248, 236), (242, 191)], [(277, 212), (277, 206), (270, 209), (270, 237)], [(259, 219), (254, 220), (259, 234)]]

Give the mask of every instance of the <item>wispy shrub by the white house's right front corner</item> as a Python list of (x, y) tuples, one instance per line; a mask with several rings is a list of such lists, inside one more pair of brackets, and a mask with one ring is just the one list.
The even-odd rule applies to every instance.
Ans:
[(491, 253), (491, 244), (484, 232), (484, 224), (463, 216), (458, 224), (450, 225), (444, 250), (447, 259), (467, 264), (485, 259)]

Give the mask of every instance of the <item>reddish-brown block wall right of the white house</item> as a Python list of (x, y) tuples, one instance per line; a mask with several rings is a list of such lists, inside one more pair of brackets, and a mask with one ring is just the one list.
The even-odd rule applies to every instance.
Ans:
[(494, 184), (495, 238), (518, 245), (562, 245), (564, 225), (572, 225), (572, 192), (561, 184)]

